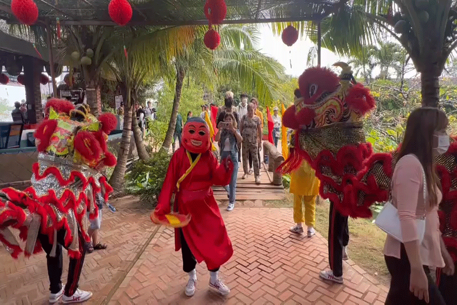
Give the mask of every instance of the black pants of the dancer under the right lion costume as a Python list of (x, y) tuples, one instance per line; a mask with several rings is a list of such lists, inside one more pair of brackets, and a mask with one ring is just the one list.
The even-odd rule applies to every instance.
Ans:
[(329, 264), (335, 277), (343, 275), (343, 247), (349, 242), (348, 217), (342, 216), (330, 201)]

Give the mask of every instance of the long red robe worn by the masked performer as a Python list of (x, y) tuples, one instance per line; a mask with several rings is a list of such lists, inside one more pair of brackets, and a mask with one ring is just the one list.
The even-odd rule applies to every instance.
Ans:
[[(186, 149), (180, 147), (170, 161), (164, 186), (158, 197), (156, 215), (171, 211), (170, 199), (176, 190), (178, 179), (190, 167)], [(190, 214), (190, 223), (181, 228), (187, 245), (195, 259), (205, 261), (209, 270), (217, 269), (232, 257), (232, 242), (228, 238), (219, 207), (211, 186), (230, 184), (232, 170), (219, 165), (211, 151), (200, 157), (192, 171), (181, 182), (175, 196), (173, 210), (179, 214)], [(175, 250), (181, 249), (179, 229), (175, 229)]]

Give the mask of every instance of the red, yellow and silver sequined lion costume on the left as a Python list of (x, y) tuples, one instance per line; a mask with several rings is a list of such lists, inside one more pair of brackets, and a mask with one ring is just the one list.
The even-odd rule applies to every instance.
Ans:
[[(81, 233), (85, 241), (86, 212), (97, 217), (95, 196), (105, 200), (113, 191), (101, 171), (116, 164), (107, 148), (108, 134), (116, 118), (104, 113), (97, 119), (87, 105), (74, 106), (66, 100), (52, 99), (45, 107), (45, 119), (35, 132), (39, 152), (33, 165), (31, 187), (24, 191), (0, 191), (0, 241), (17, 258), (42, 251), (37, 236), (49, 237), (56, 247), (57, 232), (65, 230), (64, 242), (72, 258), (79, 258)], [(25, 240), (24, 250), (11, 228)], [(55, 250), (53, 250), (55, 252)]]

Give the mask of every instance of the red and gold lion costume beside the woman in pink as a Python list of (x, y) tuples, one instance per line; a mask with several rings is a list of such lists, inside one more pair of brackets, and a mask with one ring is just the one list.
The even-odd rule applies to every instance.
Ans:
[[(282, 118), (285, 127), (297, 131), (295, 149), (278, 170), (289, 173), (305, 159), (320, 180), (322, 198), (330, 199), (343, 216), (368, 218), (371, 199), (387, 199), (377, 185), (366, 187), (358, 176), (373, 154), (362, 119), (375, 107), (375, 100), (368, 88), (355, 82), (347, 64), (335, 66), (342, 68), (340, 76), (313, 67), (299, 77), (296, 99)], [(375, 193), (376, 198), (360, 201), (361, 190)]]

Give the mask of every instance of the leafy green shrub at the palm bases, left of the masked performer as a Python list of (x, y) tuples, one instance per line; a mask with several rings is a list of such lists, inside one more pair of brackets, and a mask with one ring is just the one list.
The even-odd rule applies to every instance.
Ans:
[(164, 151), (154, 153), (148, 161), (138, 161), (125, 179), (126, 190), (130, 194), (139, 195), (144, 202), (150, 202), (153, 207), (157, 203), (171, 156)]

